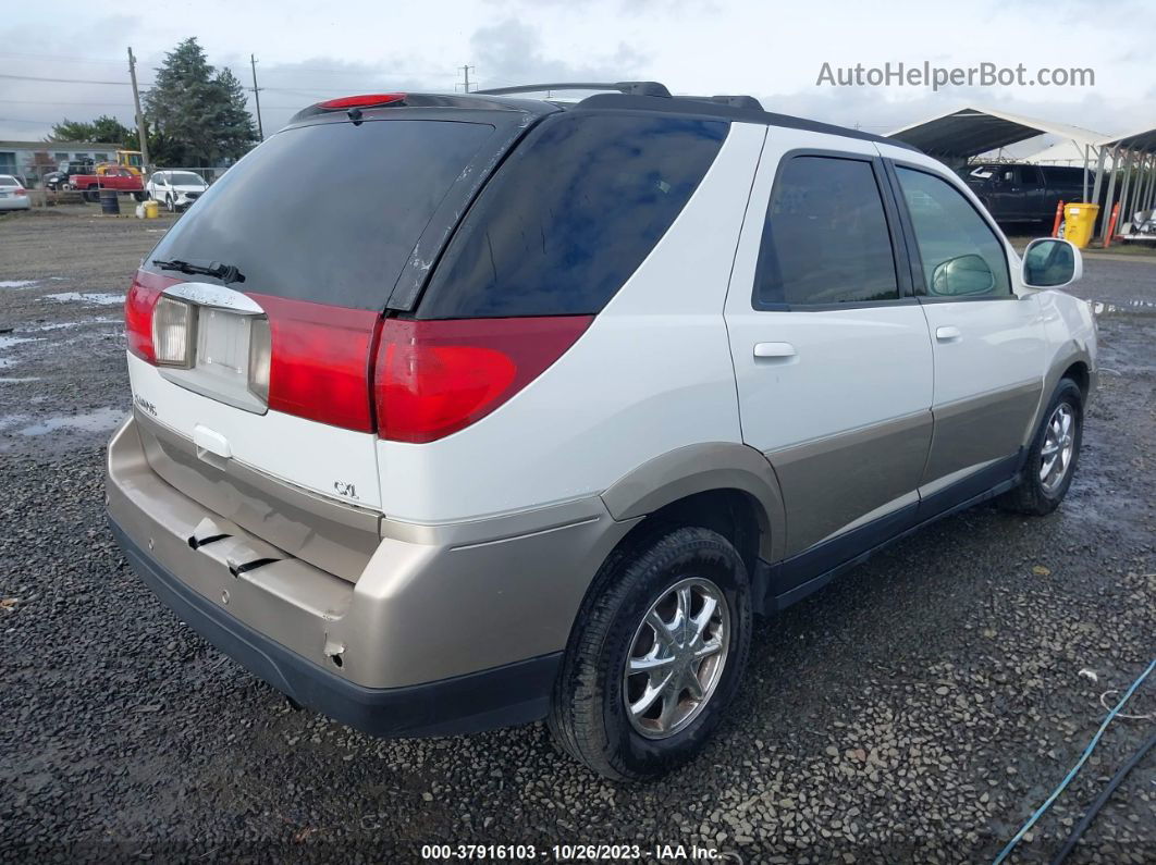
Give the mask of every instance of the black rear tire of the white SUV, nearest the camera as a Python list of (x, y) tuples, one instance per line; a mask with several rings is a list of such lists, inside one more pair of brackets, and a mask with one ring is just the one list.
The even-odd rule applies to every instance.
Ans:
[[(673, 591), (676, 587), (691, 598), (692, 619), (703, 617), (710, 592), (718, 592), (721, 601), (712, 607), (713, 616), (706, 613), (713, 625), (705, 633), (710, 635), (707, 642), (725, 649), (696, 661), (699, 656), (694, 653), (701, 655), (707, 648), (702, 642), (686, 643), (689, 648), (680, 649), (670, 648), (674, 643), (659, 644), (658, 631), (644, 619), (657, 609), (664, 618), (670, 614), (676, 620), (679, 613), (672, 612), (669, 605), (681, 598), (681, 592)], [(686, 640), (687, 631), (681, 633)], [(613, 781), (642, 781), (677, 768), (705, 745), (738, 692), (750, 654), (750, 633), (747, 568), (721, 535), (696, 527), (666, 528), (616, 551), (599, 571), (566, 647), (547, 722), (555, 741)], [(665, 717), (669, 700), (665, 691), (655, 700), (661, 702), (658, 710), (652, 706), (638, 721), (628, 716), (627, 699), (644, 703), (651, 693), (647, 688), (655, 681), (652, 676), (659, 674), (640, 672), (625, 678), (628, 658), (633, 656), (642, 663), (649, 659), (638, 654), (647, 635), (653, 643), (650, 654), (687, 653), (682, 659), (660, 663), (669, 663), (662, 669), (672, 673), (681, 670), (679, 681), (695, 676), (699, 683), (695, 687), (704, 696), (696, 701), (689, 689), (679, 691), (666, 731), (659, 729), (661, 717)], [(712, 658), (719, 659), (712, 664)], [(705, 688), (701, 679), (707, 680)], [(680, 715), (684, 717), (674, 721)], [(640, 730), (644, 725), (652, 729)]]

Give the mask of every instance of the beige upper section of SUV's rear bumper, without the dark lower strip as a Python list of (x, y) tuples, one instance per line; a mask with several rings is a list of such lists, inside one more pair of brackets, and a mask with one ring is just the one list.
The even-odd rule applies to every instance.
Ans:
[[(436, 681), (565, 648), (591, 580), (638, 522), (613, 520), (598, 497), (454, 525), (384, 521), (385, 537), (350, 581), (172, 486), (150, 464), (139, 430), (129, 419), (109, 443), (110, 517), (187, 588), (371, 688)], [(229, 537), (192, 549), (190, 536), (206, 524)], [(261, 558), (275, 561), (230, 572), (230, 565)]]

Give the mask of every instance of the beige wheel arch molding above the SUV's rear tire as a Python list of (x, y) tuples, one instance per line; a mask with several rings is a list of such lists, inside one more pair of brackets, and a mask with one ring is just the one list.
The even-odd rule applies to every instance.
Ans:
[(696, 493), (739, 490), (756, 502), (758, 554), (777, 561), (784, 554), (786, 512), (775, 469), (747, 445), (713, 441), (670, 450), (616, 480), (602, 493), (615, 520), (645, 516)]

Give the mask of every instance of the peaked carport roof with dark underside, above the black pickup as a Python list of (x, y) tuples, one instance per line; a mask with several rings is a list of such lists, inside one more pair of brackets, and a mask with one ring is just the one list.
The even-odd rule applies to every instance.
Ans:
[(888, 133), (929, 156), (966, 159), (1037, 135), (1059, 135), (1079, 146), (1098, 146), (1104, 135), (1080, 126), (1009, 114), (994, 109), (963, 107)]

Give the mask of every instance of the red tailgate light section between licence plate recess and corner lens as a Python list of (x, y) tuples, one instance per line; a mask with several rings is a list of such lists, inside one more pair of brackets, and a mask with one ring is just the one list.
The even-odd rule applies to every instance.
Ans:
[(369, 373), (376, 312), (251, 294), (269, 319), (268, 405), (297, 417), (373, 432)]

